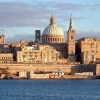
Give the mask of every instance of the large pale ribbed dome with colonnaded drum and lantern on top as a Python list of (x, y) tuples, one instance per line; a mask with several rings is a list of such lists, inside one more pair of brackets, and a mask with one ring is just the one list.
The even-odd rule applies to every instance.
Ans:
[(50, 25), (47, 26), (42, 33), (42, 41), (44, 43), (61, 43), (64, 42), (64, 33), (56, 24), (54, 16), (50, 19)]

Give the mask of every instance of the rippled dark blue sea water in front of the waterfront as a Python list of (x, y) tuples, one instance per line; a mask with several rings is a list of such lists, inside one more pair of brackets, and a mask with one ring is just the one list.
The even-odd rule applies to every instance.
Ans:
[(0, 100), (100, 100), (100, 80), (0, 80)]

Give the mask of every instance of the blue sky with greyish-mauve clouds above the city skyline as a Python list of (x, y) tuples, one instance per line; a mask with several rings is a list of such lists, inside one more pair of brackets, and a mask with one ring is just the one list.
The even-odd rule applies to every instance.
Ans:
[(0, 34), (6, 41), (34, 40), (56, 17), (67, 37), (72, 14), (76, 39), (100, 38), (100, 0), (0, 0)]

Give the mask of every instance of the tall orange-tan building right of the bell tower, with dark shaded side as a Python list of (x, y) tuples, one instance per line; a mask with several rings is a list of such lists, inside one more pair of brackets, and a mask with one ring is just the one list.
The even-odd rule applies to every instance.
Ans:
[(100, 63), (100, 39), (79, 39), (77, 41), (77, 49), (81, 63)]

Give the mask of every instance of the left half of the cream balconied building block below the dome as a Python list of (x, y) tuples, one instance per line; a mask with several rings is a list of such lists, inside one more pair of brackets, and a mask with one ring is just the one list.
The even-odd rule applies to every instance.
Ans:
[(37, 46), (22, 46), (20, 51), (17, 51), (18, 63), (35, 63), (41, 61), (41, 55)]

